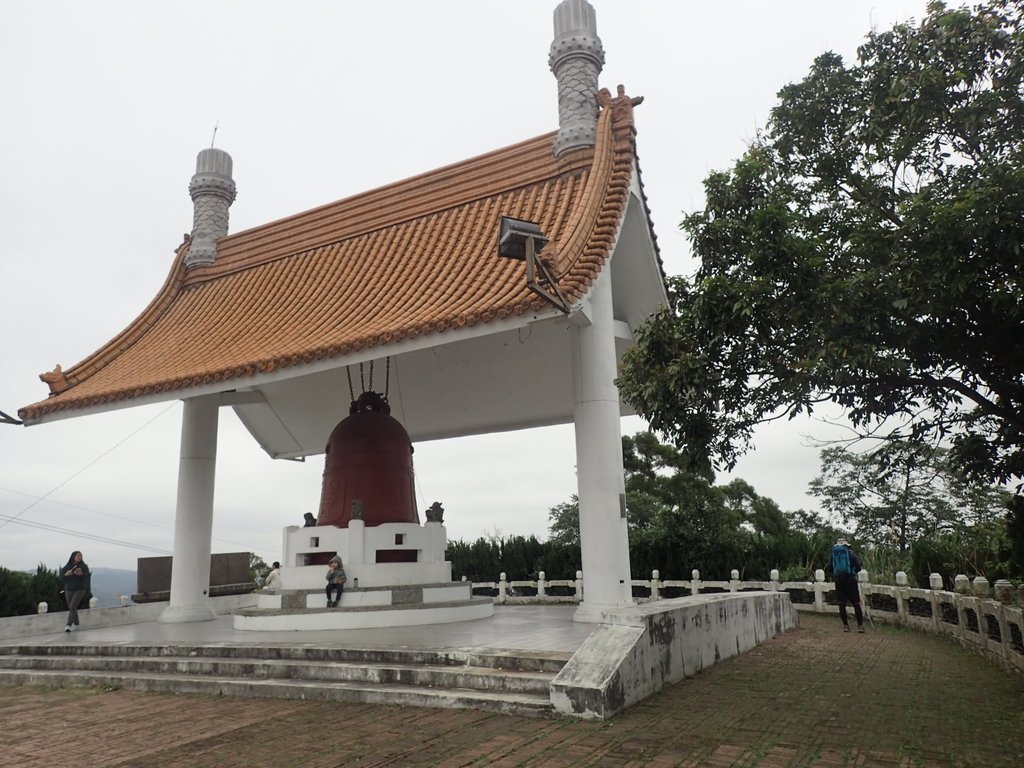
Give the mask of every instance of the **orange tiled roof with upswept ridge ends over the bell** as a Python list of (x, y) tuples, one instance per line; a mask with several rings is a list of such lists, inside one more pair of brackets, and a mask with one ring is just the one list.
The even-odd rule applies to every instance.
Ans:
[[(546, 308), (521, 261), (497, 256), (503, 215), (540, 223), (572, 303), (600, 272), (635, 160), (632, 114), (605, 109), (593, 150), (556, 160), (554, 134), (222, 239), (150, 306), (18, 411), (47, 414), (234, 381)], [(63, 382), (51, 385), (60, 389)]]

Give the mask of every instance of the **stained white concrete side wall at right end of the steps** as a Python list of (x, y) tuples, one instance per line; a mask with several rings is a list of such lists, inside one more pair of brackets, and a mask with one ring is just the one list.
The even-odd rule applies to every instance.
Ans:
[(564, 715), (607, 719), (798, 625), (785, 592), (698, 595), (608, 611), (552, 681), (551, 701)]

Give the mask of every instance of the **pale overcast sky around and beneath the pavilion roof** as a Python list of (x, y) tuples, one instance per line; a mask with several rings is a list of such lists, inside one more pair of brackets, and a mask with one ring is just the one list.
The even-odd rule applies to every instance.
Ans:
[[(825, 50), (920, 17), (924, 0), (592, 0), (606, 63), (636, 110), (667, 272), (701, 180), (763, 126), (778, 89)], [(191, 228), (197, 153), (234, 161), (241, 231), (557, 128), (554, 0), (0, 4), (0, 410), (46, 396), (159, 291)], [(135, 567), (170, 554), (181, 404), (0, 425), (0, 565)], [(642, 428), (624, 420), (625, 433)], [(759, 433), (736, 474), (783, 509), (806, 496), (812, 422)], [(222, 412), (214, 552), (281, 557), (315, 512), (322, 457), (272, 461)], [(451, 539), (547, 535), (575, 488), (569, 426), (419, 443), (421, 511)], [(721, 477), (720, 479), (728, 479)], [(458, 574), (456, 574), (458, 577)], [(671, 575), (671, 574), (670, 574)]]

